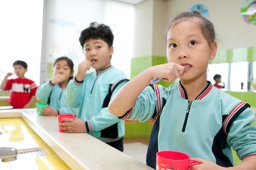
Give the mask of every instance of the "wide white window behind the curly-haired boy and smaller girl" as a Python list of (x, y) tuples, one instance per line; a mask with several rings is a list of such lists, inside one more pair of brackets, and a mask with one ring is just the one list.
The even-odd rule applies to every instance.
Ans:
[[(45, 49), (43, 73), (52, 76), (54, 60), (63, 55), (73, 60), (75, 70), (84, 60), (79, 44), (81, 31), (90, 22), (98, 22), (111, 27), (114, 34), (114, 53), (111, 64), (124, 71), (129, 78), (133, 41), (133, 6), (117, 1), (47, 1), (45, 22)], [(44, 72), (45, 71), (45, 72)], [(76, 72), (76, 71), (75, 71)], [(45, 81), (45, 80), (42, 80)]]

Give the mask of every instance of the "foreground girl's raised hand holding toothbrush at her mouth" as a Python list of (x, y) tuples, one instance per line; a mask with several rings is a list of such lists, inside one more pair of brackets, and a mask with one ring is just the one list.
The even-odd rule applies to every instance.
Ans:
[(166, 81), (174, 81), (179, 78), (184, 72), (184, 66), (180, 66), (174, 62), (161, 64), (158, 66), (151, 67), (152, 79), (163, 78)]

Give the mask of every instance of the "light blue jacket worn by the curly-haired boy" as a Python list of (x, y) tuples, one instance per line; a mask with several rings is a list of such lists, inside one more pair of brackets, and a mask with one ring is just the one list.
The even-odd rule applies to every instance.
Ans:
[(84, 120), (87, 132), (106, 143), (124, 136), (124, 120), (109, 113), (108, 103), (127, 81), (122, 71), (109, 67), (86, 74), (83, 82), (68, 83), (68, 106), (79, 108), (77, 117)]

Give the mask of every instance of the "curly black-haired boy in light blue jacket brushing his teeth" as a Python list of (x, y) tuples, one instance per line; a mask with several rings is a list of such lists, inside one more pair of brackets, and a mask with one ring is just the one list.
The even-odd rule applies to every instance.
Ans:
[[(111, 66), (113, 33), (107, 25), (93, 22), (81, 32), (79, 41), (85, 60), (67, 86), (67, 104), (79, 108), (76, 119), (63, 118), (65, 132), (88, 132), (95, 138), (123, 151), (124, 120), (108, 112), (108, 103), (128, 80)], [(86, 73), (90, 67), (95, 71)]]

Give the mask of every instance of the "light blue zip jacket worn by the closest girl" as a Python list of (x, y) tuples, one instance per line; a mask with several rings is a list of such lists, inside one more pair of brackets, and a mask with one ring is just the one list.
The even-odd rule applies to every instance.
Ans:
[(175, 150), (233, 166), (231, 147), (239, 159), (256, 154), (255, 115), (249, 104), (212, 87), (192, 102), (181, 83), (168, 89), (150, 85), (122, 119), (155, 120), (147, 152), (148, 166), (156, 168), (156, 153)]

